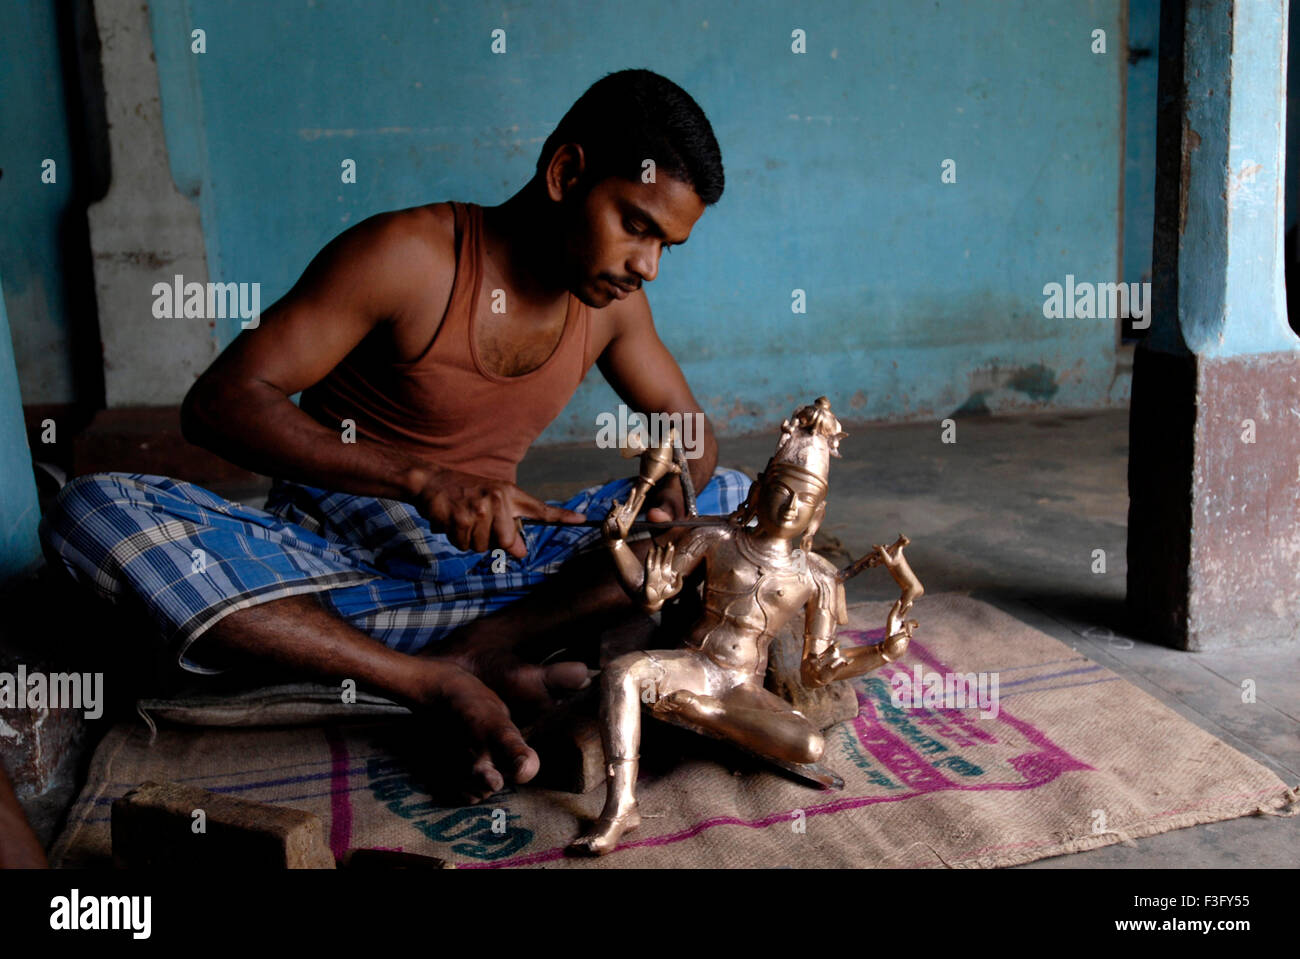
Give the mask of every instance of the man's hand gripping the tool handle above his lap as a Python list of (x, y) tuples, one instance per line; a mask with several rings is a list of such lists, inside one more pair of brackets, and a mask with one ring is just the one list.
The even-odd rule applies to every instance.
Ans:
[(552, 507), (515, 483), (434, 469), (411, 500), (434, 531), (445, 533), (458, 550), (486, 552), (500, 547), (515, 559), (528, 555), (516, 517), (550, 522), (582, 522), (584, 513)]

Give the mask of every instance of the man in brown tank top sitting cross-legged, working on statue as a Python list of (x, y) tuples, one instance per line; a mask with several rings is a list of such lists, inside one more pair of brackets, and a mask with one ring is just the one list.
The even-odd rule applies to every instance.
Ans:
[[(528, 781), (538, 758), (508, 704), (590, 680), (584, 663), (523, 661), (520, 643), (630, 600), (601, 552), (567, 563), (599, 530), (519, 521), (599, 520), (629, 483), (542, 503), (516, 467), (593, 364), (633, 409), (703, 422), (641, 285), (722, 188), (690, 96), (646, 70), (606, 77), (510, 200), (347, 230), (195, 382), (186, 437), (277, 477), (264, 509), (165, 477), (79, 477), (42, 524), (47, 555), (147, 611), (186, 669), (350, 678), (458, 717), (473, 758), (450, 772), (469, 797)], [(699, 439), (699, 509), (729, 513), (749, 481)], [(668, 490), (647, 516), (682, 512)]]

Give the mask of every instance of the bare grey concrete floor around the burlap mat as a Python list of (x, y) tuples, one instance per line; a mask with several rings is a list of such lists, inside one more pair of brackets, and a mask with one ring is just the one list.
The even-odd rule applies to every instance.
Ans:
[[(937, 424), (846, 424), (842, 460), (832, 467), (824, 530), (853, 556), (904, 531), (907, 555), (931, 593), (976, 596), (1041, 629), (1123, 676), (1179, 715), (1300, 784), (1300, 642), (1271, 648), (1190, 654), (1153, 646), (1124, 629), (1124, 537), (1128, 508), (1128, 413), (1105, 411), (957, 421), (945, 444)], [(775, 434), (727, 439), (722, 464), (753, 474)], [(629, 463), (593, 446), (534, 450), (520, 485), (547, 499), (629, 472)], [(213, 487), (216, 489), (216, 487)], [(220, 490), (259, 502), (257, 491)], [(1093, 550), (1106, 572), (1093, 573)], [(885, 576), (852, 581), (850, 602), (887, 599)], [(1245, 706), (1240, 681), (1254, 678)], [(66, 795), (68, 799), (64, 799)], [(51, 841), (72, 798), (61, 784), (29, 810)], [(1300, 816), (1256, 816), (1178, 829), (1045, 859), (1020, 868), (1295, 867)]]

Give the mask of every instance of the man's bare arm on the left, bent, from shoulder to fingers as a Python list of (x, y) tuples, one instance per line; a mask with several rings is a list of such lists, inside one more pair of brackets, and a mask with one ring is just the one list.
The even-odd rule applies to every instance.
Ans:
[(289, 399), (325, 378), (381, 331), (419, 352), (451, 298), (455, 253), (432, 208), (372, 217), (332, 242), (255, 330), (246, 330), (190, 389), (185, 437), (247, 469), (341, 492), (412, 503), (464, 550), (525, 554), (516, 516), (584, 517), (514, 483), (445, 469), (385, 443), (344, 443)]

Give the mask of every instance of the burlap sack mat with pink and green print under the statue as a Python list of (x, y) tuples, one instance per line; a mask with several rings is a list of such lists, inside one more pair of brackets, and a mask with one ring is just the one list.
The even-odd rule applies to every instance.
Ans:
[[(885, 609), (850, 609), (844, 642), (875, 641)], [(644, 825), (601, 860), (563, 849), (598, 812), (603, 790), (524, 786), (478, 807), (437, 806), (394, 756), (394, 721), (162, 725), (152, 746), (144, 725), (120, 726), (96, 752), (52, 858), (105, 863), (109, 807), (146, 780), (308, 810), (338, 856), (394, 849), (480, 868), (994, 867), (1252, 813), (1294, 815), (1296, 790), (1069, 646), (966, 595), (927, 595), (915, 612), (922, 626), (907, 656), (857, 680), (858, 719), (827, 734), (826, 763), (845, 778), (842, 791), (753, 761), (733, 773), (688, 758), (642, 776)], [(996, 673), (997, 715), (910, 698), (897, 707), (890, 678), (915, 677), (916, 667), (922, 678)], [(647, 734), (659, 726), (647, 720)]]

